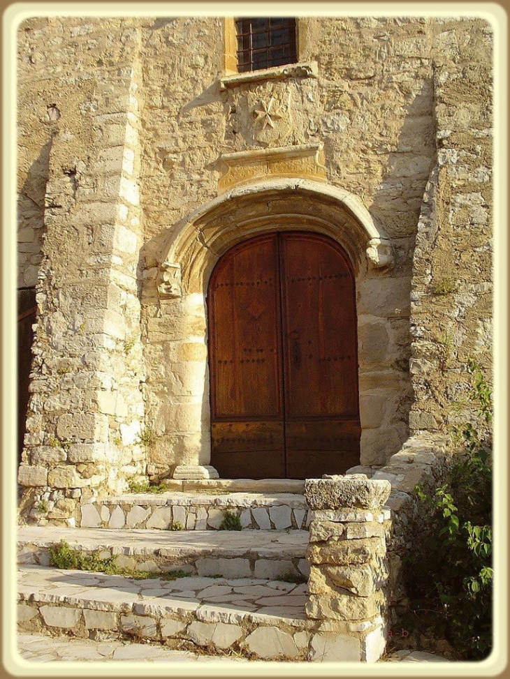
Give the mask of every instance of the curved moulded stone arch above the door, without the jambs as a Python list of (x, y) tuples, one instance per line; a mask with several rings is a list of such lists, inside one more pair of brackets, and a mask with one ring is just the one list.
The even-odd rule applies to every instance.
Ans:
[(355, 195), (309, 179), (277, 178), (237, 186), (203, 204), (172, 229), (161, 266), (180, 264), (183, 292), (201, 292), (221, 255), (238, 242), (274, 230), (333, 237), (356, 269), (387, 268), (391, 243)]

